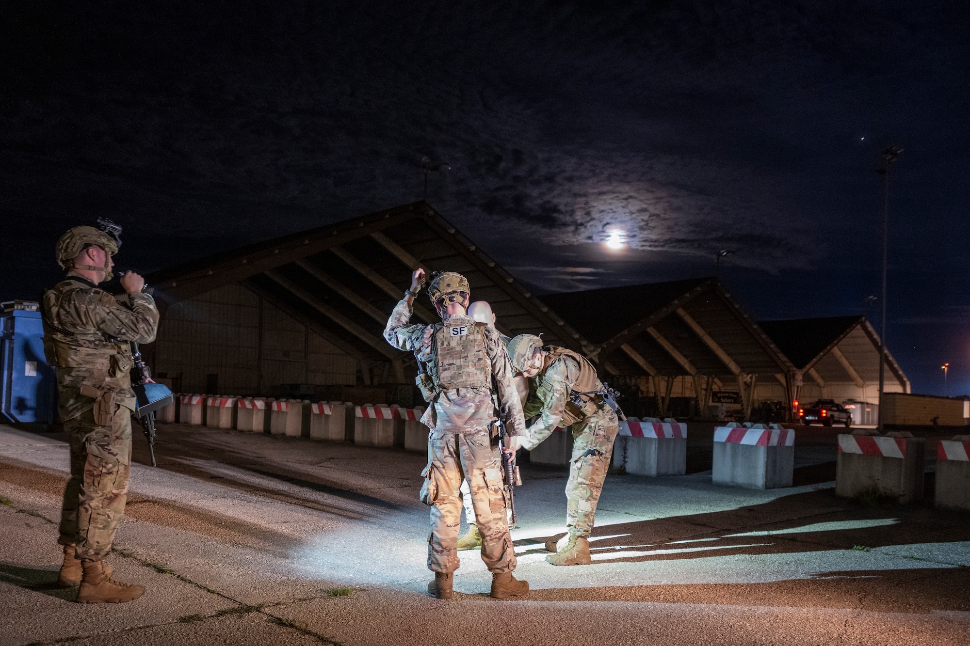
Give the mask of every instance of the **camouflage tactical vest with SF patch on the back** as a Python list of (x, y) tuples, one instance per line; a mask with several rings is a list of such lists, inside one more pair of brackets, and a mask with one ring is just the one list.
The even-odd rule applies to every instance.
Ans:
[(469, 318), (456, 325), (436, 323), (429, 372), (438, 390), (491, 388), (492, 362), (485, 352), (485, 324)]

